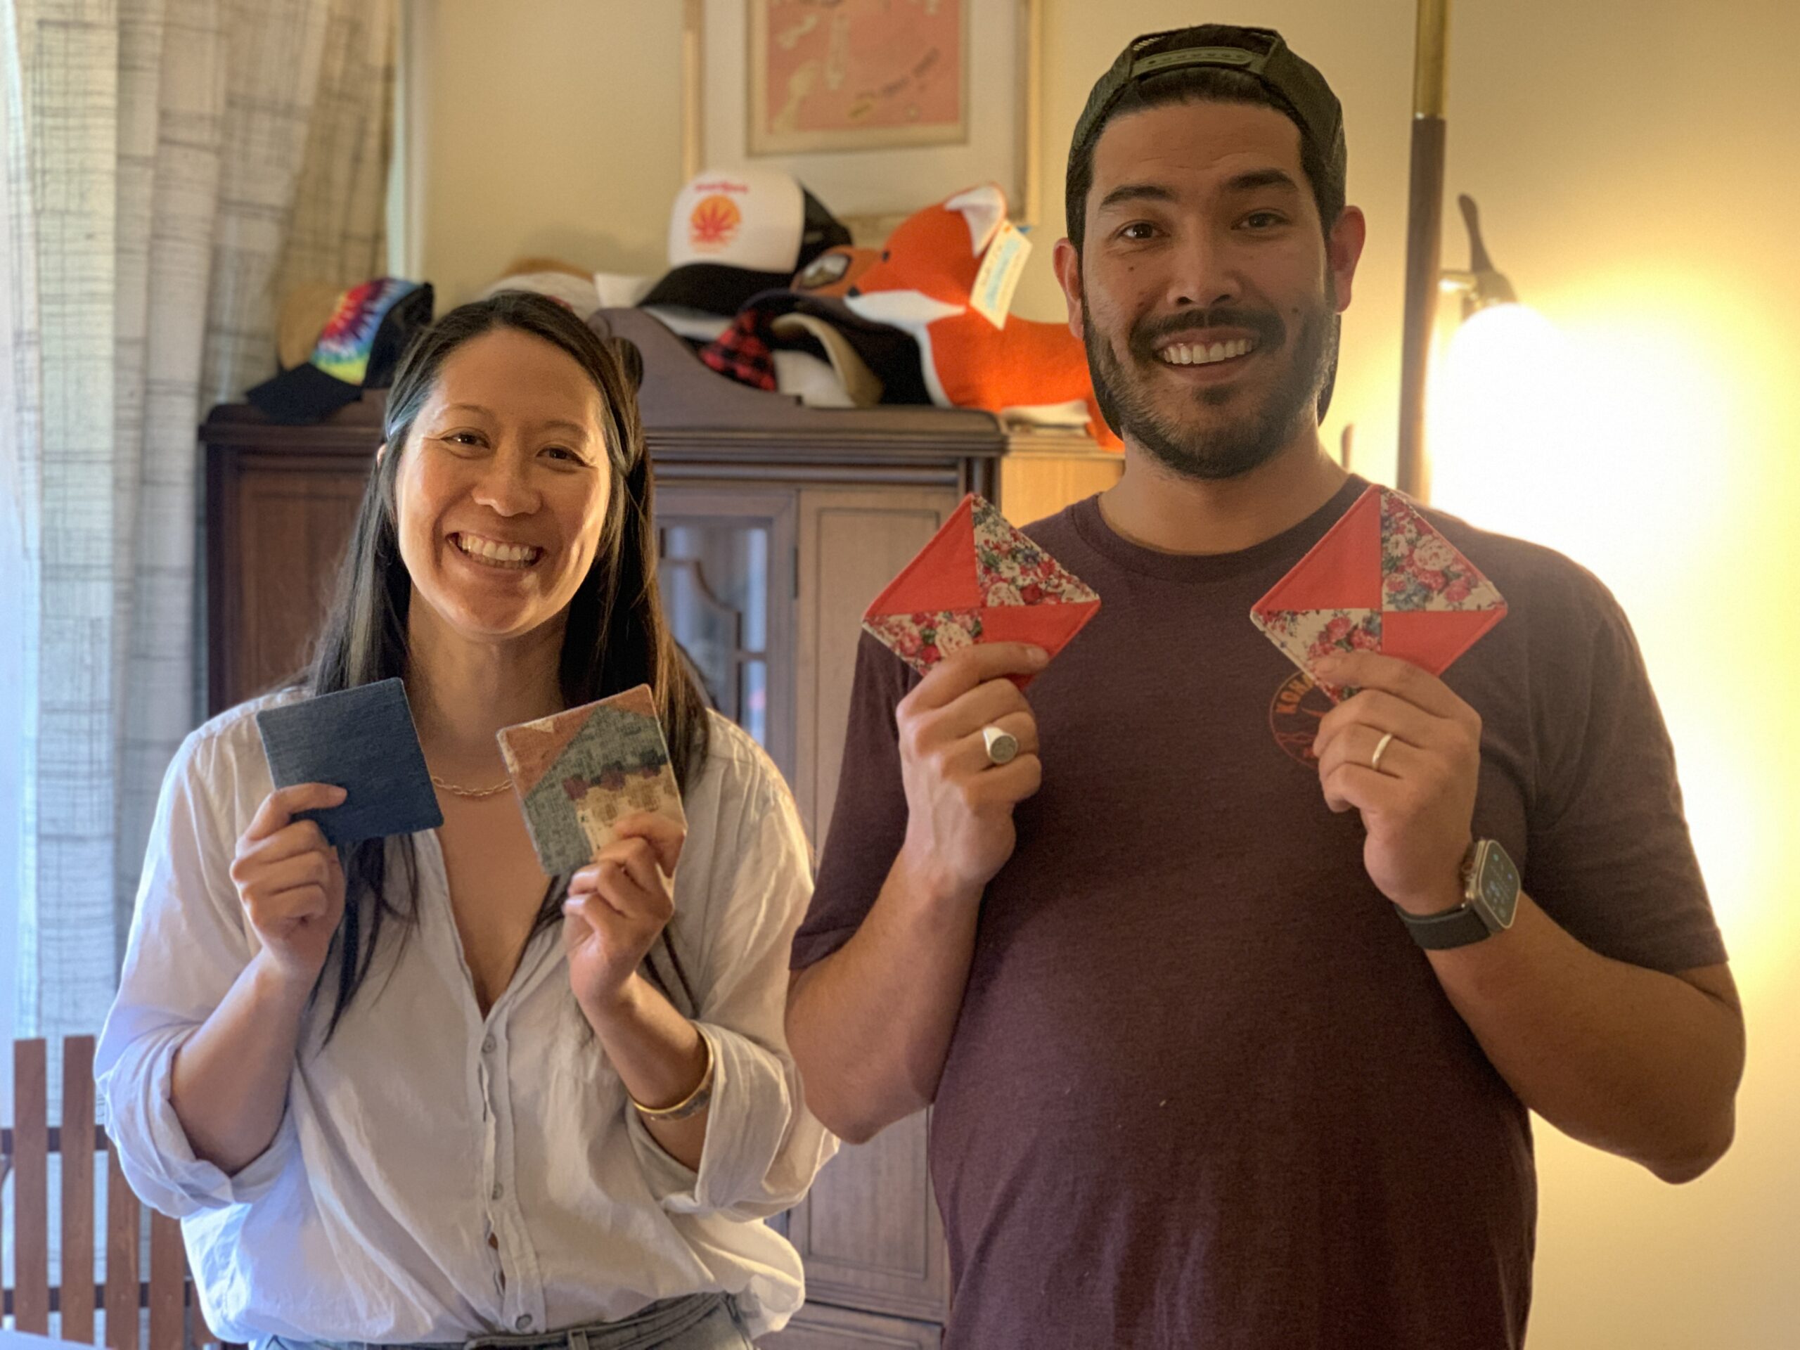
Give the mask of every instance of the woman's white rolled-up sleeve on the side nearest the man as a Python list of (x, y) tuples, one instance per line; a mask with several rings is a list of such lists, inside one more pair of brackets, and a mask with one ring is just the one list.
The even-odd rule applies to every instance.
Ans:
[(695, 990), (695, 1026), (713, 1051), (700, 1168), (670, 1157), (635, 1111), (626, 1118), (664, 1210), (767, 1219), (806, 1193), (837, 1139), (806, 1109), (783, 1030), (788, 947), (812, 895), (806, 835), (765, 756), (731, 769), (745, 787), (720, 808)]

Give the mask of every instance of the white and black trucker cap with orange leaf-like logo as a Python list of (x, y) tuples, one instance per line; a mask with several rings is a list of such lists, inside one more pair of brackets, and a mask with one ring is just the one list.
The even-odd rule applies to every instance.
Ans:
[(850, 230), (790, 173), (707, 169), (670, 212), (670, 272), (639, 304), (736, 313), (747, 299), (781, 290)]

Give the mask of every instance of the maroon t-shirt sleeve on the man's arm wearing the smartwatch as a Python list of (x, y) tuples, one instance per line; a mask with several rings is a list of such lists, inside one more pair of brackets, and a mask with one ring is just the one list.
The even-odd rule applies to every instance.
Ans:
[[(1525, 891), (1602, 956), (1676, 972), (1726, 959), (1681, 810), (1674, 747), (1618, 601), (1577, 571), (1580, 603), (1539, 671), (1541, 790)], [(1548, 677), (1548, 679), (1544, 679)]]

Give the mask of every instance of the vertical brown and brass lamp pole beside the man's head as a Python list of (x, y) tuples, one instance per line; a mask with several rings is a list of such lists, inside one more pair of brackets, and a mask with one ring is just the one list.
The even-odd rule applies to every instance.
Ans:
[(1406, 211), (1406, 328), (1400, 340), (1400, 441), (1395, 486), (1429, 500), (1426, 367), (1438, 317), (1444, 239), (1444, 110), (1449, 0), (1418, 0), (1413, 47), (1413, 171)]

